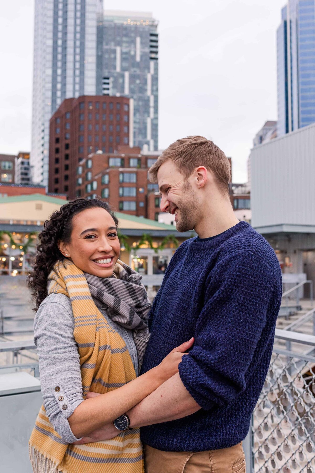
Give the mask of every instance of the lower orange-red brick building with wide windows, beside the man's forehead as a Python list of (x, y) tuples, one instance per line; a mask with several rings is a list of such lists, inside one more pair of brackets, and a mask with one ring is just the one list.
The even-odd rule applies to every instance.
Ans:
[(157, 220), (160, 196), (157, 184), (148, 181), (148, 169), (158, 155), (158, 151), (141, 154), (137, 147), (91, 154), (77, 166), (76, 195), (100, 196), (114, 210)]

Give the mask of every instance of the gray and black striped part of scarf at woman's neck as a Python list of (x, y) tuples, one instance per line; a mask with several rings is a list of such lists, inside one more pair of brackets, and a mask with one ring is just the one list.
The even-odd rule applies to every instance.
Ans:
[(84, 274), (96, 307), (105, 310), (111, 320), (133, 331), (140, 371), (150, 337), (148, 315), (151, 309), (145, 287), (140, 282), (142, 276), (120, 260), (110, 278)]

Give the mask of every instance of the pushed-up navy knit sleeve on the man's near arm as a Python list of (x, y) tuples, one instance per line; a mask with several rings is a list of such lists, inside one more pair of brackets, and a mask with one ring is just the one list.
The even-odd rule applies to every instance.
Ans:
[(205, 410), (229, 405), (245, 389), (268, 306), (275, 302), (275, 276), (262, 258), (238, 256), (222, 258), (213, 268), (194, 347), (179, 364), (183, 384)]

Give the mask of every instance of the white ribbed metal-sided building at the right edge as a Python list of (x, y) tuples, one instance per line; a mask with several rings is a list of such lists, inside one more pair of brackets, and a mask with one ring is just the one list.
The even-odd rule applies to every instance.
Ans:
[(315, 281), (315, 124), (251, 150), (252, 225), (284, 273)]

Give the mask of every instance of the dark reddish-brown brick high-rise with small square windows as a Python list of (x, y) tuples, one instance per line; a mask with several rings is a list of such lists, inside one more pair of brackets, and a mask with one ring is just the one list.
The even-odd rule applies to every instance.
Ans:
[(129, 99), (80, 96), (62, 102), (50, 121), (49, 192), (76, 196), (77, 166), (98, 150), (129, 144)]

